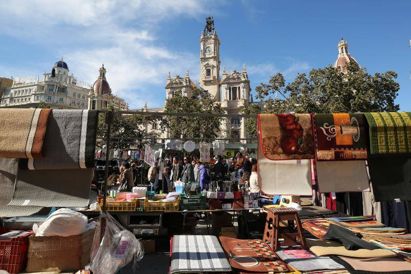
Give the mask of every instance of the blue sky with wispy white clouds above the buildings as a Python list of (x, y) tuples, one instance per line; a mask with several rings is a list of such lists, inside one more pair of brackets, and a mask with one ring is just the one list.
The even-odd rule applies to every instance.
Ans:
[[(410, 1), (0, 0), (0, 76), (41, 75), (64, 56), (79, 80), (102, 63), (132, 108), (161, 107), (167, 71), (199, 79), (199, 36), (211, 14), (221, 65), (246, 63), (254, 88), (282, 71), (325, 67), (343, 35), (370, 73), (395, 70), (397, 103), (411, 111)], [(222, 67), (221, 67), (222, 70)]]

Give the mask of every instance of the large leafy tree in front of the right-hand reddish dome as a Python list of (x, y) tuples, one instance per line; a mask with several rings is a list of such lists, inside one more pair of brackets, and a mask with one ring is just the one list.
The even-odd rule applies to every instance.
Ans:
[[(400, 109), (394, 102), (400, 88), (394, 80), (397, 72), (388, 70), (372, 76), (356, 63), (347, 63), (344, 71), (332, 66), (312, 69), (308, 75), (298, 74), (287, 85), (278, 72), (268, 84), (261, 83), (255, 88), (255, 98), (261, 101), (250, 104), (243, 113), (396, 112)], [(274, 96), (277, 94), (284, 99), (277, 99)], [(256, 134), (256, 128), (256, 119), (246, 122), (250, 135)]]

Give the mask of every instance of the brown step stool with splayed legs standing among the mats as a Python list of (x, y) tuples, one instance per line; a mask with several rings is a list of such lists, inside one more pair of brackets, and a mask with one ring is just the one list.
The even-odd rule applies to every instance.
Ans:
[[(277, 251), (282, 246), (296, 245), (307, 248), (297, 210), (293, 208), (267, 208), (267, 210), (263, 241), (271, 243), (272, 250)], [(280, 226), (280, 222), (287, 222), (287, 226)], [(278, 239), (284, 239), (284, 243), (279, 243)]]

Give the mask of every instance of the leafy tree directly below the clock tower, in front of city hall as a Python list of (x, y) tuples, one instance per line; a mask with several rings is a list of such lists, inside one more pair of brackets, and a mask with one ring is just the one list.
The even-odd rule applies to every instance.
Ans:
[[(183, 96), (178, 90), (166, 100), (165, 111), (169, 113), (201, 113), (223, 114), (220, 104), (215, 104), (215, 98), (206, 90), (194, 88), (190, 97)], [(165, 126), (174, 138), (215, 138), (216, 132), (221, 130), (219, 117), (179, 117), (167, 116)]]

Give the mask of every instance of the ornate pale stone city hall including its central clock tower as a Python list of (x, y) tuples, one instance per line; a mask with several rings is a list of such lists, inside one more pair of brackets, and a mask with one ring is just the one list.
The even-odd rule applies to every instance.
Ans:
[[(169, 99), (177, 90), (181, 90), (184, 96), (189, 96), (193, 88), (199, 87), (207, 90), (214, 98), (215, 103), (221, 104), (226, 114), (241, 114), (242, 108), (249, 105), (251, 88), (250, 80), (247, 75), (246, 65), (243, 65), (242, 72), (232, 70), (226, 72), (223, 67), (220, 75), (220, 39), (214, 27), (213, 17), (206, 19), (206, 26), (200, 35), (200, 79), (193, 82), (190, 79), (189, 71), (185, 77), (176, 75), (171, 77), (169, 72), (165, 85), (165, 99)], [(163, 112), (164, 108), (147, 108), (145, 104), (143, 111), (146, 112)], [(222, 131), (218, 133), (219, 137), (240, 139), (247, 138), (245, 131), (245, 118), (233, 117), (227, 118), (221, 123)], [(152, 135), (167, 138), (167, 133), (161, 133), (159, 124), (146, 125), (144, 129)], [(246, 140), (241, 140), (246, 142)]]

